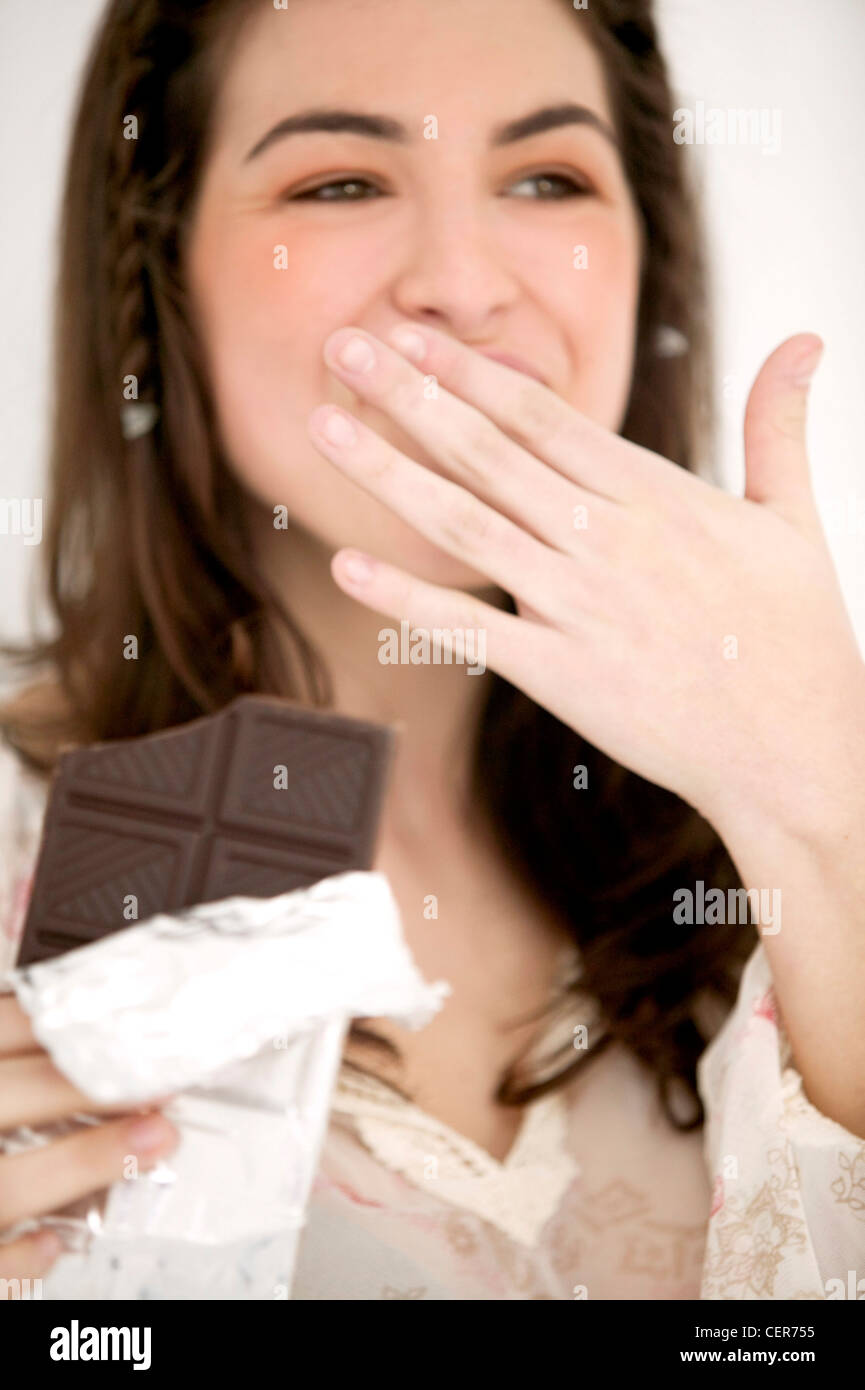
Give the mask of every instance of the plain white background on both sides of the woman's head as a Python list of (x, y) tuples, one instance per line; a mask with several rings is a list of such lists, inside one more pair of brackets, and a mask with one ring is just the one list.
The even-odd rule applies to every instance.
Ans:
[[(395, 0), (398, 3), (398, 0)], [(591, 3), (591, 0), (590, 0)], [(67, 129), (102, 0), (0, 0), (0, 498), (43, 495), (49, 303)], [(694, 146), (706, 199), (726, 482), (741, 491), (741, 418), (766, 354), (815, 331), (811, 460), (865, 646), (865, 3), (662, 0), (677, 104), (780, 108), (780, 153)], [(47, 507), (46, 507), (47, 510)], [(846, 517), (848, 520), (846, 520)], [(26, 631), (42, 548), (0, 535), (0, 637)]]

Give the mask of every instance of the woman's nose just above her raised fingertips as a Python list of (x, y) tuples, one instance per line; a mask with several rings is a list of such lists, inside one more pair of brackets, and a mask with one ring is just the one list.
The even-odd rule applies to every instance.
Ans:
[(519, 282), (483, 208), (424, 207), (394, 278), (396, 313), (458, 338), (483, 336), (519, 296)]

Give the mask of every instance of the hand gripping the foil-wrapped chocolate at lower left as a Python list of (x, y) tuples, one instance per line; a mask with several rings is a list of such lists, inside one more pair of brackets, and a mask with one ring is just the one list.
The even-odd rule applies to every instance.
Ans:
[[(0, 998), (0, 1137), (19, 1125), (117, 1112), (78, 1091), (33, 1038), (18, 1001)], [(106, 1120), (26, 1154), (0, 1152), (0, 1279), (40, 1277), (63, 1248), (47, 1229), (6, 1244), (3, 1232), (108, 1187), (124, 1176), (129, 1155), (140, 1170), (152, 1168), (178, 1138), (174, 1125), (153, 1112)]]

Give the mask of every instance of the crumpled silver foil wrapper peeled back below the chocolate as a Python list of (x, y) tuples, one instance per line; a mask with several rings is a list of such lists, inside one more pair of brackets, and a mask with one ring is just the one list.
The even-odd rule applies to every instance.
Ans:
[[(181, 1133), (100, 1200), (3, 1233), (64, 1237), (49, 1298), (289, 1297), (350, 1019), (419, 1029), (449, 994), (419, 974), (384, 874), (360, 870), (159, 915), (7, 972), (0, 990), (85, 1095), (134, 1109), (170, 1094)], [(22, 1127), (0, 1148), (83, 1123)]]

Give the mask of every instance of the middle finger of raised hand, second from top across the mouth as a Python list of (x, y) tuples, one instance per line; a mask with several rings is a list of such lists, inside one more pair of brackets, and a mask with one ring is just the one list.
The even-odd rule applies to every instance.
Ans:
[[(508, 438), (476, 406), (439, 389), (377, 338), (369, 334), (362, 336), (362, 345), (374, 353), (367, 370), (346, 367), (339, 352), (357, 336), (352, 329), (341, 329), (328, 338), (325, 359), (331, 371), (357, 396), (395, 420), (449, 477), (471, 488), (478, 498), (538, 539), (569, 550), (577, 543), (570, 523), (574, 507), (583, 507), (585, 513), (595, 510), (598, 518), (605, 509), (615, 510), (609, 499), (563, 477), (538, 455)], [(513, 378), (495, 379), (498, 395), (512, 393), (515, 381), (517, 385), (528, 382), (527, 377), (508, 367), (488, 366), (496, 366), (499, 373)]]

